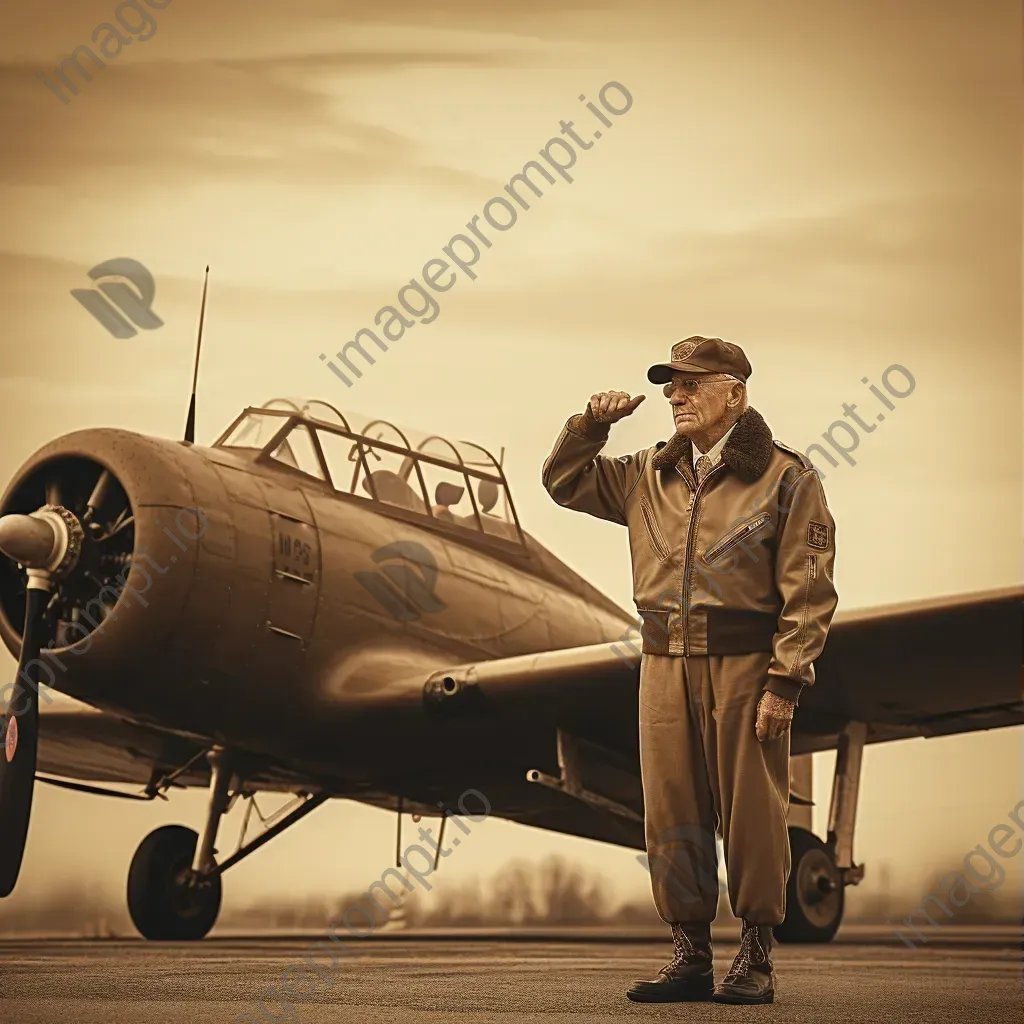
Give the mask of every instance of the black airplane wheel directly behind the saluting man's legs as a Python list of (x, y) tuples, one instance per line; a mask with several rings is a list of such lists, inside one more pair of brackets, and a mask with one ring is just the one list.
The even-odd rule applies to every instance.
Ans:
[(828, 942), (843, 921), (843, 877), (828, 847), (806, 828), (790, 826), (793, 868), (785, 887), (779, 942)]

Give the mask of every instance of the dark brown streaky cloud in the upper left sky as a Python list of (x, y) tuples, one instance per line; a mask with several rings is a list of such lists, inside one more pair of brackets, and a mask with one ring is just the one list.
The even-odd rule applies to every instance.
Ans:
[[(94, 70), (63, 105), (27, 65), (0, 68), (9, 144), (0, 183), (101, 185), (113, 173), (159, 169), (182, 186), (230, 179), (350, 185), (382, 173), (434, 173), (435, 183), (475, 183), (438, 168), (409, 137), (350, 113), (338, 79), (367, 73), (512, 66), (525, 53), (335, 52)], [(439, 172), (439, 173), (437, 173)]]

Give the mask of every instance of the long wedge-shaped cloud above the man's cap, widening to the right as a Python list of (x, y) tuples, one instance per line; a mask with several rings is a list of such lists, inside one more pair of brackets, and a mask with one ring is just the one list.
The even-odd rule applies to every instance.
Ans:
[(730, 230), (638, 231), (564, 262), (548, 280), (488, 287), (481, 264), (474, 288), (450, 306), (530, 335), (543, 324), (545, 337), (651, 329), (668, 336), (681, 316), (809, 336), (839, 328), (948, 337), (972, 326), (1011, 327), (1019, 316), (1008, 274), (1019, 265), (1020, 201), (1009, 174), (1006, 181), (987, 193), (894, 198)]

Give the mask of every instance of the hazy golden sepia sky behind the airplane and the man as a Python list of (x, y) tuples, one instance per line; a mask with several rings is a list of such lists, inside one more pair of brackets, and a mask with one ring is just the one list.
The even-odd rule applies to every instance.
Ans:
[[(609, 450), (645, 447), (672, 429), (647, 366), (719, 335), (744, 347), (776, 436), (806, 449), (845, 402), (874, 423), (862, 378), (881, 387), (899, 365), (912, 393), (861, 433), (856, 465), (823, 467), (841, 608), (1020, 580), (1018, 4), (172, 0), (60, 102), (36, 73), (116, 6), (0, 12), (3, 480), (79, 427), (180, 434), (210, 264), (201, 443), (245, 404), (301, 394), (504, 446), (526, 528), (629, 606), (625, 534), (540, 485), (593, 391), (648, 394)], [(436, 318), (346, 389), (319, 353), (373, 326), (561, 119), (592, 132), (578, 97), (609, 81), (633, 105), (571, 184), (529, 196), (477, 279), (460, 274)], [(121, 256), (153, 272), (165, 322), (128, 340), (69, 294)], [(1022, 752), (1019, 729), (870, 749), (864, 887), (888, 862), (914, 893), (928, 865), (983, 842), (1024, 797)], [(819, 829), (831, 760), (817, 759)], [(65, 880), (119, 894), (145, 831), (198, 826), (203, 802), (126, 809), (44, 788), (10, 902)], [(368, 883), (392, 827), (324, 809), (233, 871), (225, 901)], [(550, 852), (644, 893), (627, 851), (501, 822), (445, 869)]]

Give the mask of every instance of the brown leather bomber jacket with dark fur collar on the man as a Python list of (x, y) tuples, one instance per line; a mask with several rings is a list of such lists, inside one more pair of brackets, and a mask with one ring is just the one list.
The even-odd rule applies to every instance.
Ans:
[(798, 700), (838, 603), (836, 524), (810, 461), (754, 409), (699, 486), (682, 435), (617, 459), (599, 454), (607, 438), (589, 407), (573, 416), (543, 480), (559, 505), (628, 527), (643, 653), (770, 651), (765, 689)]

